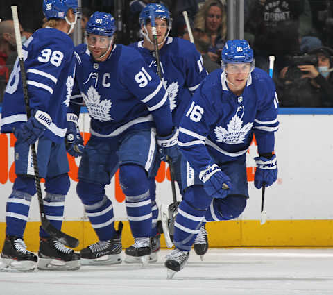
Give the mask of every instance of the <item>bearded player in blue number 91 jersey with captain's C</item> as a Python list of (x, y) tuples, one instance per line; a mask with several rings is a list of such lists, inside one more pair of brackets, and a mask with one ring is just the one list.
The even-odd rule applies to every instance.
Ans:
[[(121, 228), (114, 229), (112, 202), (105, 185), (119, 168), (126, 211), (135, 244), (131, 253), (144, 264), (151, 254), (151, 200), (148, 176), (153, 173), (157, 144), (164, 155), (178, 156), (169, 99), (158, 76), (133, 48), (113, 44), (114, 18), (94, 12), (86, 42), (76, 47), (76, 82), (71, 116), (81, 101), (91, 117), (91, 137), (78, 169), (76, 191), (99, 242), (84, 248), (82, 264), (121, 262)], [(103, 261), (97, 260), (102, 258)]]

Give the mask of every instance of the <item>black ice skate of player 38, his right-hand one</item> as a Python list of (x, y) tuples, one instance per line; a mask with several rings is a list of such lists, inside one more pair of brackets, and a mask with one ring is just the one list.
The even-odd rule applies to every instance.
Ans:
[(37, 268), (43, 270), (69, 271), (80, 268), (80, 254), (67, 248), (53, 237), (40, 239)]

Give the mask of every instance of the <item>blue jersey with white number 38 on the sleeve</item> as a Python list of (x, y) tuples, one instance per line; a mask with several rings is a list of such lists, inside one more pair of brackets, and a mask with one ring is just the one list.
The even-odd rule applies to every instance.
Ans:
[[(30, 108), (51, 117), (44, 134), (60, 142), (67, 130), (66, 113), (74, 85), (73, 41), (56, 28), (41, 28), (26, 41), (23, 53)], [(3, 96), (2, 133), (11, 133), (27, 119), (20, 71), (17, 59)]]

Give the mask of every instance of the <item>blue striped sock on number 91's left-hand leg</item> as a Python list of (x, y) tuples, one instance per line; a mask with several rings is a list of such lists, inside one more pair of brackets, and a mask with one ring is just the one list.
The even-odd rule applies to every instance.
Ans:
[(113, 205), (105, 196), (104, 185), (78, 181), (76, 192), (99, 240), (106, 241), (115, 235)]

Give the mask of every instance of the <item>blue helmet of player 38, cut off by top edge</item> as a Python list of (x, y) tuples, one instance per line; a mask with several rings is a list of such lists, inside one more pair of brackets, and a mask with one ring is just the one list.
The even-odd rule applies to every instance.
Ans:
[(44, 0), (43, 12), (46, 19), (65, 19), (67, 11), (73, 9), (74, 14), (78, 13), (78, 0)]

